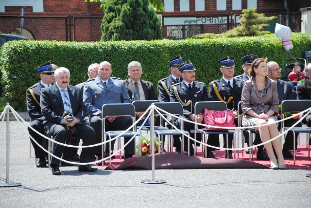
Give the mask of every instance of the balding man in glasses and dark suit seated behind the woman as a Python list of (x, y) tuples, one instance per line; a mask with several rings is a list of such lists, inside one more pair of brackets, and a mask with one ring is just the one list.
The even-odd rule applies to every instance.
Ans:
[[(270, 79), (276, 81), (277, 87), (277, 96), (278, 96), (278, 104), (282, 104), (285, 100), (294, 100), (292, 86), (289, 82), (285, 82), (281, 80), (281, 69), (278, 64), (274, 61), (269, 61), (267, 63), (267, 67), (269, 69), (268, 76)], [(297, 119), (290, 119), (284, 121), (285, 127), (290, 127), (297, 122)], [(302, 123), (298, 123), (295, 127), (301, 127)], [(278, 130), (281, 129), (281, 124), (278, 125)], [(256, 137), (259, 135), (256, 135)], [(298, 134), (295, 134), (296, 146), (297, 149), (297, 140)], [(284, 158), (294, 158), (293, 154), (289, 150), (294, 150), (294, 134), (289, 131), (285, 137), (285, 142), (283, 144), (283, 156)]]

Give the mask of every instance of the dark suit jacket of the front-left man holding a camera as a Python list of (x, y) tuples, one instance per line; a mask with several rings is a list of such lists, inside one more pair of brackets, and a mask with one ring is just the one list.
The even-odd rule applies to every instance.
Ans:
[[(69, 85), (68, 93), (73, 116), (79, 119), (81, 124), (86, 124), (84, 122), (86, 106), (83, 103), (81, 90)], [(65, 111), (62, 96), (56, 85), (42, 88), (40, 104), (42, 114), (45, 117), (43, 122), (45, 132), (48, 137), (51, 137), (54, 125), (61, 124), (63, 118), (60, 115)]]

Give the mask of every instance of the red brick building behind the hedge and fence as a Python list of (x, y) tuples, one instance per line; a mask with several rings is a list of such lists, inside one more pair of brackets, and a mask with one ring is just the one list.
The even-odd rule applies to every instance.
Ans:
[[(311, 7), (311, 0), (162, 0), (162, 3), (163, 37), (173, 39), (225, 32), (238, 21), (239, 16), (234, 15), (250, 7), (265, 14), (299, 12), (300, 8)], [(21, 8), (25, 18), (3, 17), (20, 16)], [(100, 3), (84, 0), (0, 0), (0, 31), (27, 34), (35, 40), (99, 41), (103, 16)]]

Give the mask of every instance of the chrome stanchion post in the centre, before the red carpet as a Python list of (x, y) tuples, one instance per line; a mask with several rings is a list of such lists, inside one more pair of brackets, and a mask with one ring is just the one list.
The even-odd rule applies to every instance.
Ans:
[[(151, 118), (155, 118), (155, 106), (152, 106), (151, 109)], [(149, 184), (158, 184), (158, 183), (166, 183), (166, 180), (155, 179), (155, 120), (151, 119), (150, 122), (150, 136), (151, 136), (151, 169), (152, 169), (152, 179), (141, 180), (141, 183), (149, 183)]]

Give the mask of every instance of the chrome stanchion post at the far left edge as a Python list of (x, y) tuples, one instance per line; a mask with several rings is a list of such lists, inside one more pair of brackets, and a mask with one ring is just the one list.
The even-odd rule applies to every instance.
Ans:
[(21, 186), (20, 183), (10, 182), (10, 104), (6, 103), (6, 183), (0, 183), (0, 187)]

